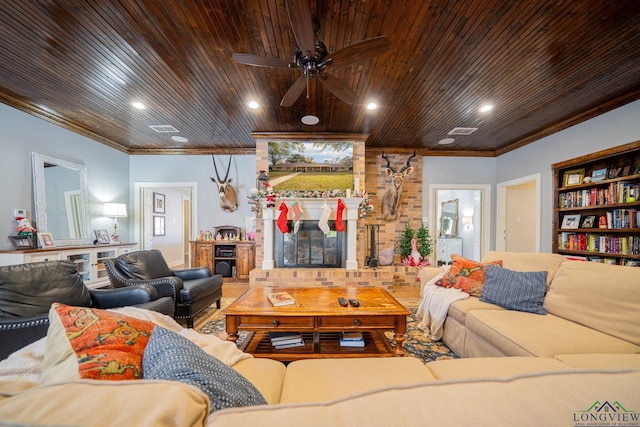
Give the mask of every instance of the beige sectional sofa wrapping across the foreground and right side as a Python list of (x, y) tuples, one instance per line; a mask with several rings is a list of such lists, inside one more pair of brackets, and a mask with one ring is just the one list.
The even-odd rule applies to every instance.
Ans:
[[(180, 329), (167, 316), (121, 309), (114, 311), (150, 316), (146, 318), (215, 354), (248, 380), (266, 404), (210, 414), (212, 399), (193, 383), (70, 379), (43, 384), (37, 364), (18, 364), (18, 372), (30, 375), (3, 376), (7, 362), (3, 361), (0, 421), (140, 426), (640, 425), (640, 307), (632, 292), (634, 285), (640, 285), (638, 273), (568, 262), (553, 254), (490, 253), (485, 260), (498, 258), (511, 271), (544, 268), (551, 273), (544, 301), (548, 313), (523, 313), (531, 315), (525, 316), (533, 322), (529, 326), (519, 320), (521, 314), (476, 298), (453, 303), (445, 323), (446, 342), (472, 357), (426, 365), (411, 357), (313, 359), (285, 365)], [(438, 273), (428, 269), (421, 277), (428, 282)], [(576, 282), (568, 279), (570, 275)], [(602, 286), (614, 283), (607, 288), (608, 295), (586, 295), (594, 287), (600, 289), (596, 284), (601, 281)], [(586, 287), (571, 290), (569, 282)], [(454, 318), (453, 313), (463, 309), (464, 317)], [(618, 315), (609, 315), (609, 310)], [(492, 317), (496, 313), (511, 313), (515, 320)], [(546, 318), (551, 320), (541, 320)], [(479, 326), (481, 321), (484, 327)], [(53, 339), (53, 333), (50, 328), (45, 343), (61, 340)], [(558, 338), (546, 336), (555, 334)], [(38, 352), (51, 351), (38, 342), (26, 350), (10, 359), (37, 360), (42, 356)]]

